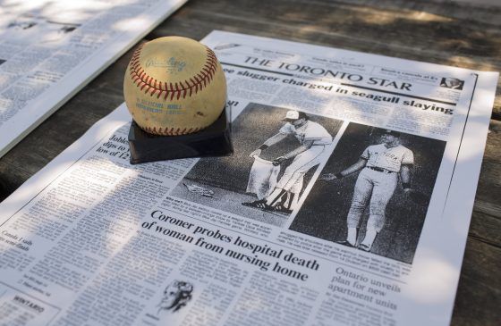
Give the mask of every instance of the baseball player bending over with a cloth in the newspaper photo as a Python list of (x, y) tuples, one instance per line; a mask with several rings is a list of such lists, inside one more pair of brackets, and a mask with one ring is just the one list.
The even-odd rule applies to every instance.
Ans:
[(244, 202), (242, 205), (259, 208), (265, 211), (292, 213), (301, 193), (304, 174), (325, 159), (326, 147), (332, 144), (332, 136), (320, 124), (310, 121), (306, 113), (288, 111), (283, 119), (284, 125), (278, 133), (267, 138), (258, 149), (250, 153), (250, 157), (259, 157), (261, 152), (275, 146), (287, 137), (293, 136), (299, 146), (291, 152), (276, 157), (272, 164), (282, 165), (293, 159), (285, 167), (284, 174), (276, 182), (273, 191), (265, 198)]

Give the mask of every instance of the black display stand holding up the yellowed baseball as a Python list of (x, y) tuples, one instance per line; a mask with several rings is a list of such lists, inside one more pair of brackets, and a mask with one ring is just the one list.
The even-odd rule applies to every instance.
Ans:
[(129, 130), (131, 164), (188, 157), (232, 155), (231, 107), (225, 106), (217, 121), (199, 132), (180, 136), (157, 136), (141, 130), (132, 120)]

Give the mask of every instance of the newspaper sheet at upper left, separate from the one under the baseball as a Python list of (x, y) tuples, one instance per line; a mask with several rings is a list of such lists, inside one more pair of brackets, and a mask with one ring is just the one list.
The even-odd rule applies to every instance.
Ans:
[(0, 0), (0, 156), (186, 0)]

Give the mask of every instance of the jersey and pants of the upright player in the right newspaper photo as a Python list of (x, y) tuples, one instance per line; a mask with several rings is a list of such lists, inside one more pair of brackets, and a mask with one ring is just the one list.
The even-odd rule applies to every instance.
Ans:
[(379, 232), (385, 224), (385, 211), (393, 196), (402, 164), (413, 164), (414, 155), (402, 145), (387, 148), (384, 144), (367, 147), (361, 158), (367, 160), (355, 183), (348, 228), (358, 228), (361, 215), (369, 203), (367, 229)]

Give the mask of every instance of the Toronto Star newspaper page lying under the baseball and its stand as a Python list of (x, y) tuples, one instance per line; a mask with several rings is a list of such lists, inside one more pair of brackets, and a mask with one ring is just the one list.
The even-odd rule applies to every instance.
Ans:
[(131, 165), (99, 121), (0, 205), (1, 324), (448, 324), (497, 73), (203, 42), (234, 154)]

